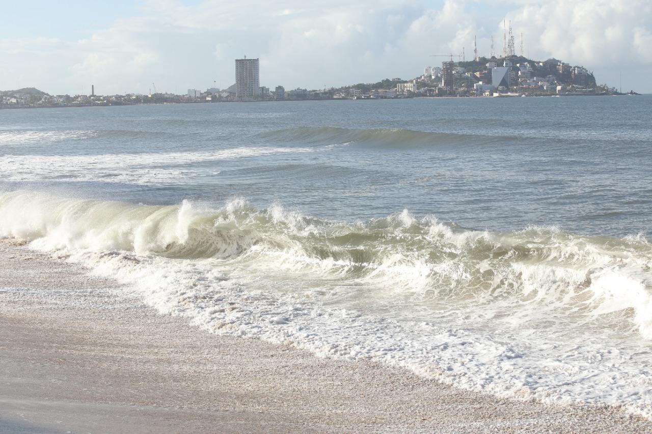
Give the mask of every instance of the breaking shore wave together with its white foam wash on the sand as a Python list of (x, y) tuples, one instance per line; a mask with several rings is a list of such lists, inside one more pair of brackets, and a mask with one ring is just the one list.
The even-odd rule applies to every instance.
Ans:
[(505, 398), (652, 418), (652, 246), (554, 228), (345, 224), (190, 202), (0, 195), (0, 236), (125, 283), (216, 334), (402, 366)]

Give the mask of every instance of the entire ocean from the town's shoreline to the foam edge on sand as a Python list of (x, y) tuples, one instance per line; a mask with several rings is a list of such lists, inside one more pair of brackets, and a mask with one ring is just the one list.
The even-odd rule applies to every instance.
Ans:
[(652, 96), (0, 110), (0, 236), (206, 332), (652, 417), (650, 119)]

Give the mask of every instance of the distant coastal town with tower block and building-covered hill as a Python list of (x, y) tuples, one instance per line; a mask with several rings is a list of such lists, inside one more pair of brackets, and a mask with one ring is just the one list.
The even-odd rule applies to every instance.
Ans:
[[(438, 57), (436, 55), (434, 57)], [(376, 83), (357, 83), (327, 89), (297, 87), (274, 89), (259, 85), (259, 59), (235, 59), (235, 83), (227, 89), (208, 87), (188, 89), (185, 94), (156, 91), (149, 93), (48, 94), (33, 87), (0, 91), (0, 108), (123, 106), (137, 104), (175, 104), (236, 101), (297, 100), (377, 100), (416, 97), (509, 97), (509, 96), (589, 96), (623, 94), (615, 87), (598, 85), (584, 66), (572, 66), (559, 59), (534, 61), (507, 53), (501, 57), (464, 60), (449, 57), (441, 66), (425, 66), (421, 75), (403, 80), (386, 78)], [(459, 57), (460, 61), (454, 61)], [(629, 94), (636, 94), (630, 91)]]

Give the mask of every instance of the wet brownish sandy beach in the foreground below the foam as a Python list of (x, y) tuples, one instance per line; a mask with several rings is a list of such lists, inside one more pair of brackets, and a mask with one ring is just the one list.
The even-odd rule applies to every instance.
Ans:
[(643, 433), (610, 407), (497, 399), (398, 368), (203, 332), (0, 240), (3, 433)]

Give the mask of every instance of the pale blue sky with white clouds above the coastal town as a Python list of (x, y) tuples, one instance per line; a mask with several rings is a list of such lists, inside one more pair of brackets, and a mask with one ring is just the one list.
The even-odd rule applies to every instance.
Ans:
[[(447, 53), (503, 48), (593, 71), (652, 93), (649, 0), (0, 0), (0, 90), (186, 93), (235, 82), (233, 59), (260, 59), (260, 83), (321, 89), (415, 78)], [(622, 78), (621, 78), (622, 77)]]

